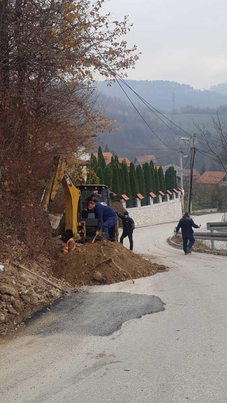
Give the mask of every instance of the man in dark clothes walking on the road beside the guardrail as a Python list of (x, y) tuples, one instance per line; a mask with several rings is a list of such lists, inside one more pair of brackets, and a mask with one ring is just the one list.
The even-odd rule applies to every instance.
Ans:
[[(179, 229), (181, 228), (182, 238), (183, 238), (183, 249), (185, 255), (187, 253), (191, 253), (191, 248), (195, 242), (195, 238), (193, 237), (193, 228), (200, 228), (197, 224), (194, 223), (193, 219), (190, 217), (189, 213), (185, 213), (185, 215), (180, 219), (178, 226), (176, 228), (176, 233), (178, 235)], [(187, 244), (189, 241), (189, 244)]]

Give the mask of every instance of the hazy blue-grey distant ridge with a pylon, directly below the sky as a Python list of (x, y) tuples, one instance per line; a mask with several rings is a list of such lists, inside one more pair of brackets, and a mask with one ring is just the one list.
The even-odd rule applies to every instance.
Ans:
[[(218, 108), (220, 105), (227, 104), (227, 83), (214, 85), (211, 90), (204, 91), (175, 81), (126, 80), (126, 83), (153, 106), (167, 112), (172, 112), (173, 110), (173, 97), (174, 109), (179, 112), (181, 112), (181, 108), (187, 106), (192, 106), (193, 108)], [(139, 102), (138, 97), (130, 89), (125, 85), (123, 87), (133, 102)], [(118, 83), (112, 83), (111, 87), (107, 87), (105, 81), (99, 81), (97, 89), (103, 95), (126, 100), (126, 96)]]

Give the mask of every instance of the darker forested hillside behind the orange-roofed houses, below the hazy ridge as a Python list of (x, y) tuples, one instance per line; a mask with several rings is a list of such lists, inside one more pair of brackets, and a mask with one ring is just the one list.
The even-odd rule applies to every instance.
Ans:
[[(109, 150), (117, 154), (119, 157), (126, 156), (131, 161), (135, 156), (143, 154), (153, 154), (156, 157), (157, 165), (177, 164), (179, 165), (180, 139), (178, 136), (188, 137), (185, 132), (175, 127), (172, 123), (165, 120), (169, 127), (155, 116), (143, 104), (136, 104), (143, 118), (153, 129), (156, 135), (149, 129), (146, 123), (139, 116), (135, 108), (128, 100), (107, 97), (103, 94), (99, 96), (99, 104), (103, 105), (104, 114), (112, 119), (117, 120), (117, 125), (122, 125), (122, 129), (113, 133), (105, 133), (101, 144), (108, 145)], [(223, 116), (226, 116), (224, 114)], [(166, 116), (179, 127), (185, 129), (187, 133), (192, 134), (196, 131), (195, 124), (203, 124), (206, 130), (213, 133), (212, 116), (210, 114), (166, 114)], [(164, 119), (162, 116), (160, 116)], [(173, 131), (175, 133), (173, 133)], [(187, 153), (187, 146), (181, 143), (183, 152)], [(202, 149), (202, 145), (198, 144), (198, 148)], [(205, 155), (196, 154), (195, 168), (201, 170), (202, 164), (208, 170), (219, 169), (216, 163)], [(183, 166), (189, 167), (189, 159), (183, 160)]]

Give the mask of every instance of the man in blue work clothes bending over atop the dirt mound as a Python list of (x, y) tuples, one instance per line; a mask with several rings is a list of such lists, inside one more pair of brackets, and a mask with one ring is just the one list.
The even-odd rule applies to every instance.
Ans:
[(107, 239), (109, 233), (110, 241), (116, 241), (115, 226), (118, 220), (116, 212), (104, 202), (89, 202), (88, 210), (93, 210), (95, 217), (98, 219), (96, 235), (99, 235), (103, 224), (103, 238)]

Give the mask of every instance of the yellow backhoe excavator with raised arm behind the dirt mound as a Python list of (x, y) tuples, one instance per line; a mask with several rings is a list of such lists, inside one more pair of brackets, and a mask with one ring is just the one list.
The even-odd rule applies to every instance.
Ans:
[[(68, 234), (80, 235), (81, 243), (94, 239), (97, 228), (97, 218), (93, 212), (88, 212), (83, 218), (83, 201), (95, 194), (97, 202), (105, 202), (109, 205), (109, 189), (105, 185), (74, 185), (70, 174), (66, 171), (66, 160), (62, 157), (55, 159), (55, 170), (50, 177), (49, 183), (44, 189), (40, 205), (44, 211), (48, 211), (48, 206), (53, 202), (60, 184), (62, 183), (65, 193), (65, 209), (63, 214), (65, 224), (65, 237)], [(97, 240), (101, 238), (97, 237)], [(118, 241), (118, 222), (116, 224), (116, 240)]]

